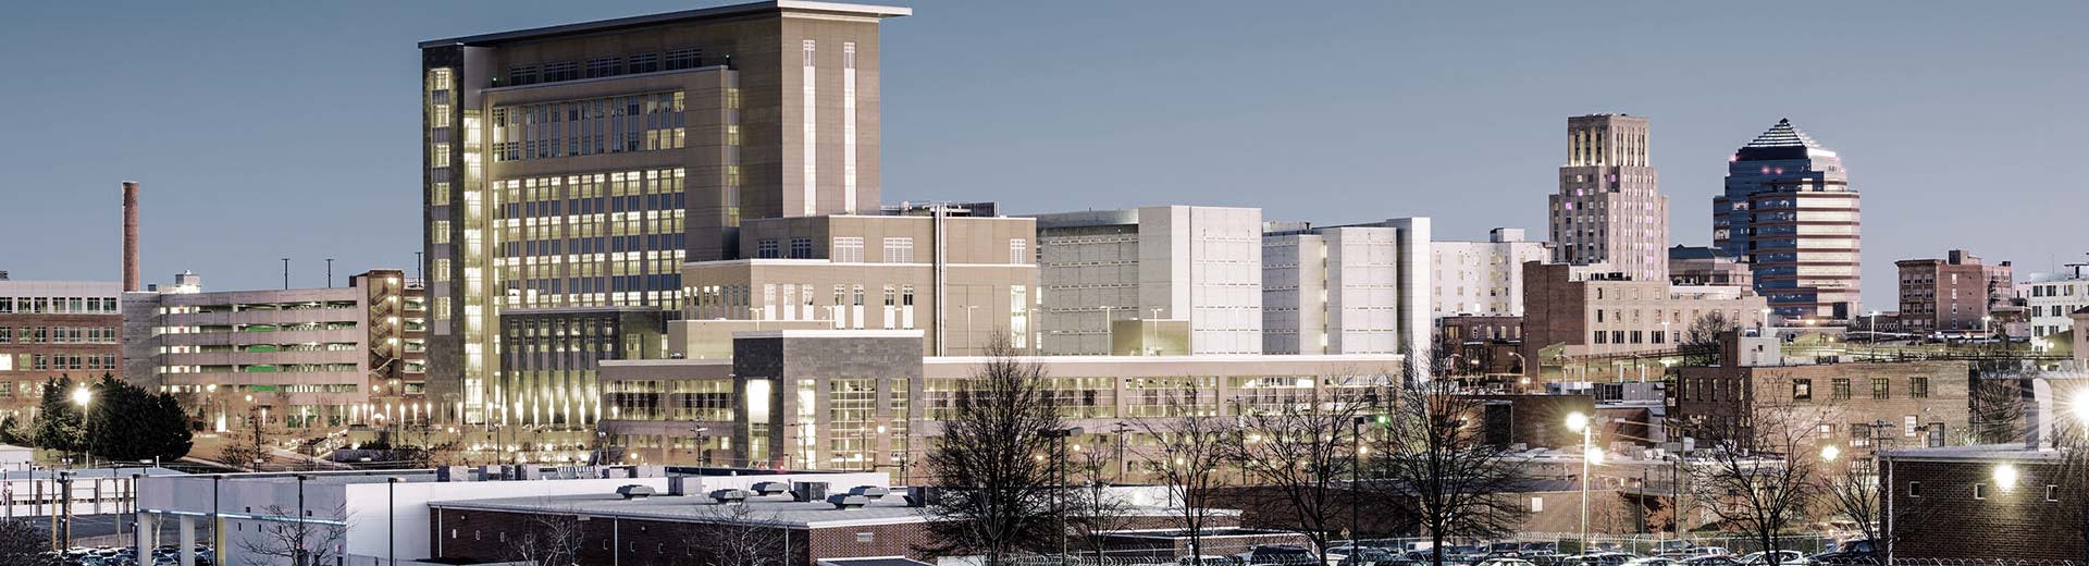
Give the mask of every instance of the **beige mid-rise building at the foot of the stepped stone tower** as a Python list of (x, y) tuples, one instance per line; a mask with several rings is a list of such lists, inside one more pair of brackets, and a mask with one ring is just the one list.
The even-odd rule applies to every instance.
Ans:
[[(1673, 351), (1698, 317), (1759, 328), (1767, 301), (1744, 286), (1673, 286), (1632, 280), (1606, 265), (1523, 265), (1523, 357), (1556, 359)], [(1548, 353), (1548, 357), (1540, 357)]]

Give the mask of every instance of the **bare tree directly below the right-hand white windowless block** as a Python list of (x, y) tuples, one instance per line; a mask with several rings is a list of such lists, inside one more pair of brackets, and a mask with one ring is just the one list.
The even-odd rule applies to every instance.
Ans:
[[(1331, 537), (1349, 520), (1354, 505), (1354, 472), (1362, 443), (1358, 418), (1366, 403), (1360, 395), (1306, 388), (1281, 399), (1258, 399), (1237, 420), (1235, 441), (1226, 443), (1228, 459), (1253, 487), (1247, 491), (1266, 503), (1291, 512), (1295, 533), (1312, 541), (1320, 562), (1327, 560)], [(1354, 533), (1358, 526), (1349, 524)]]

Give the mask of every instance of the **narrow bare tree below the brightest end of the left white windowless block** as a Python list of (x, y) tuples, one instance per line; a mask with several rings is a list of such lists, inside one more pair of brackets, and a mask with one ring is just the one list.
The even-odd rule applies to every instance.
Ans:
[(1168, 487), (1170, 510), (1182, 522), (1191, 556), (1203, 558), (1203, 533), (1212, 524), (1212, 503), (1224, 487), (1220, 468), (1228, 462), (1226, 443), (1235, 439), (1216, 403), (1201, 393), (1203, 378), (1184, 378), (1182, 388), (1161, 391), (1151, 399), (1157, 416), (1132, 418), (1132, 428), (1151, 445), (1145, 449), (1145, 470)]

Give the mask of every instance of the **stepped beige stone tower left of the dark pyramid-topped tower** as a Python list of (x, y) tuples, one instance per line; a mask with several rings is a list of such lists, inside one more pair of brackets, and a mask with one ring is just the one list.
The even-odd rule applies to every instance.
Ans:
[(1567, 165), (1550, 196), (1554, 263), (1611, 263), (1632, 280), (1667, 280), (1669, 198), (1646, 148), (1644, 117), (1567, 119)]

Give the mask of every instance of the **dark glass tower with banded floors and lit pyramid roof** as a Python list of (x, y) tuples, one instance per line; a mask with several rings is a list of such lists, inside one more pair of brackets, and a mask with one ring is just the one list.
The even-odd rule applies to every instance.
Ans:
[(1842, 157), (1780, 119), (1728, 159), (1713, 246), (1748, 263), (1780, 317), (1859, 313), (1857, 190)]

